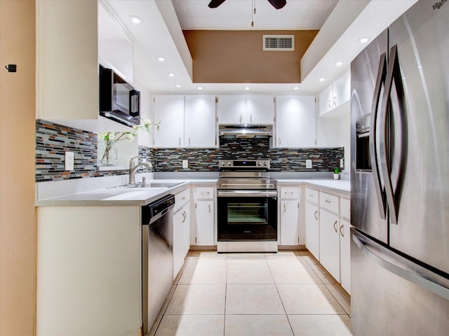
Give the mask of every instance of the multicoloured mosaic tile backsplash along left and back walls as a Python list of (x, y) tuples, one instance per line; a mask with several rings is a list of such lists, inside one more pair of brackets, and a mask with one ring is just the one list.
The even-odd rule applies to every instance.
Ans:
[[(75, 153), (74, 170), (70, 172), (64, 167), (65, 151)], [(268, 137), (220, 137), (220, 148), (139, 146), (139, 154), (153, 163), (154, 172), (217, 172), (218, 160), (230, 158), (268, 158), (272, 172), (330, 172), (340, 166), (344, 148), (270, 148)], [(305, 167), (307, 159), (312, 160), (311, 169)], [(189, 168), (182, 168), (182, 160), (189, 161)], [(127, 169), (98, 171), (95, 133), (36, 120), (36, 182), (127, 173)]]

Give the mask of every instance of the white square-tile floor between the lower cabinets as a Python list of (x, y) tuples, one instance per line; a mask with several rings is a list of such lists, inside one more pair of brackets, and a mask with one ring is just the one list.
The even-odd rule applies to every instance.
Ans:
[(192, 251), (149, 335), (351, 335), (349, 314), (349, 295), (308, 251)]

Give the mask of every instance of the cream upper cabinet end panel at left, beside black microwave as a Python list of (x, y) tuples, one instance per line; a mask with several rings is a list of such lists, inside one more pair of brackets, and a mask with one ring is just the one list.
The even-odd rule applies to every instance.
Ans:
[(36, 1), (36, 118), (125, 130), (99, 116), (97, 1)]

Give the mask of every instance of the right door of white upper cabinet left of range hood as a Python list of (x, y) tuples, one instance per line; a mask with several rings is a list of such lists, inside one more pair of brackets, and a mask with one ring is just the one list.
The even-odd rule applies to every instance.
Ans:
[(215, 94), (185, 96), (185, 147), (216, 147)]

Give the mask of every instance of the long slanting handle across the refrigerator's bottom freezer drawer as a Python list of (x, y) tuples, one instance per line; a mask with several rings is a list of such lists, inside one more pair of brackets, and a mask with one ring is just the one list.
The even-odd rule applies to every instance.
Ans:
[(380, 267), (387, 269), (387, 271), (449, 300), (449, 279), (445, 279), (443, 276), (439, 276), (375, 243), (375, 241), (359, 235), (354, 229), (351, 228), (351, 230), (353, 233), (352, 240), (360, 248), (363, 255), (373, 260)]

